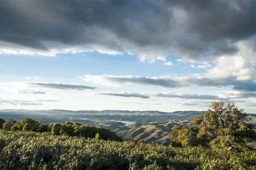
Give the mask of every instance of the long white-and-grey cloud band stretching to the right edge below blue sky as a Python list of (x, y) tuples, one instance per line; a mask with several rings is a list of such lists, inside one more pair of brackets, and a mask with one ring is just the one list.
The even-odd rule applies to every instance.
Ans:
[(218, 77), (209, 74), (198, 74), (189, 77), (141, 77), (141, 76), (117, 76), (117, 75), (84, 75), (83, 80), (108, 86), (120, 86), (120, 84), (154, 85), (163, 88), (182, 88), (189, 86), (234, 86), (241, 90), (256, 91), (252, 86), (256, 82), (250, 80), (237, 80), (236, 76)]

